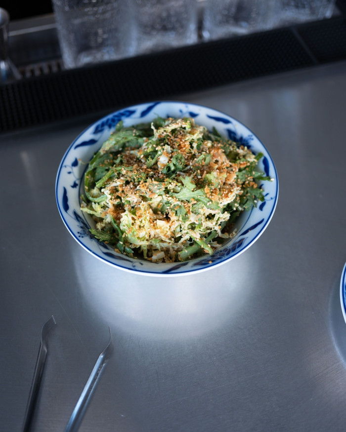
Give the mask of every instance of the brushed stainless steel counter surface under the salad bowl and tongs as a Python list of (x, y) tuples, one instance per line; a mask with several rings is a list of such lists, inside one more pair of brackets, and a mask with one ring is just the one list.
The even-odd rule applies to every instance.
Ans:
[[(279, 201), (259, 240), (197, 275), (118, 271), (70, 236), (59, 162), (96, 118), (0, 136), (0, 431), (20, 431), (51, 314), (34, 431), (63, 431), (108, 341), (80, 431), (344, 431), (346, 63), (173, 99), (263, 141)], [(115, 109), (119, 107), (114, 107)]]

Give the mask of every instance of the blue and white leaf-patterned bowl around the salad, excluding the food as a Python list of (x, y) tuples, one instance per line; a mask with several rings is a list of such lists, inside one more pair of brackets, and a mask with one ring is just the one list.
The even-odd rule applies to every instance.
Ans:
[[(260, 185), (265, 201), (257, 208), (241, 214), (236, 222), (237, 235), (226, 241), (212, 256), (205, 255), (180, 263), (152, 263), (117, 253), (110, 246), (100, 243), (90, 233), (94, 227), (92, 218), (80, 210), (83, 193), (83, 177), (87, 162), (99, 150), (114, 130), (118, 121), (124, 126), (149, 122), (160, 117), (192, 117), (197, 124), (209, 130), (215, 127), (225, 137), (249, 147), (255, 154), (262, 152), (259, 170), (273, 180)], [(116, 111), (93, 123), (70, 145), (60, 163), (56, 178), (56, 200), (64, 224), (88, 252), (103, 262), (119, 269), (153, 276), (183, 275), (201, 272), (230, 261), (250, 247), (263, 233), (273, 216), (277, 197), (278, 179), (269, 153), (259, 139), (243, 124), (213, 108), (184, 102), (150, 102)]]

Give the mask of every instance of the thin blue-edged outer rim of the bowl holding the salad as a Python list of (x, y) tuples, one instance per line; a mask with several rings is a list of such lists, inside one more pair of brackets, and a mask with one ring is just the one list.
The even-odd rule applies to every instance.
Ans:
[[(162, 104), (162, 103), (167, 103), (167, 104), (177, 104), (177, 105), (188, 105), (189, 107), (197, 107), (197, 108), (202, 108), (202, 109), (206, 109), (206, 110), (212, 110), (215, 113), (218, 113), (221, 116), (225, 116), (227, 118), (230, 118), (231, 120), (233, 120), (234, 122), (236, 122), (237, 124), (239, 124), (240, 126), (244, 127), (245, 129), (247, 129), (251, 135), (259, 142), (260, 146), (262, 146), (262, 148), (266, 151), (266, 155), (270, 161), (271, 161), (271, 165), (274, 171), (274, 176), (272, 176), (275, 180), (276, 183), (276, 190), (275, 190), (275, 196), (273, 197), (273, 203), (272, 203), (272, 208), (270, 210), (269, 215), (266, 217), (265, 223), (264, 225), (260, 228), (258, 234), (256, 236), (254, 236), (251, 241), (249, 241), (248, 244), (246, 244), (245, 246), (240, 246), (239, 249), (236, 250), (236, 252), (234, 254), (232, 254), (231, 256), (228, 256), (226, 258), (224, 258), (223, 260), (221, 260), (220, 262), (216, 262), (216, 263), (210, 263), (208, 266), (204, 267), (204, 268), (198, 268), (198, 269), (185, 269), (183, 270), (183, 266), (182, 266), (182, 270), (181, 271), (176, 271), (174, 273), (162, 273), (162, 272), (151, 272), (149, 270), (141, 270), (140, 268), (127, 268), (122, 266), (119, 263), (114, 263), (112, 261), (109, 261), (108, 258), (99, 256), (95, 251), (93, 251), (92, 249), (90, 249), (87, 245), (85, 245), (80, 238), (78, 238), (78, 236), (76, 236), (75, 232), (73, 231), (73, 229), (69, 226), (68, 222), (66, 221), (66, 218), (64, 217), (64, 214), (62, 212), (61, 209), (61, 205), (60, 205), (60, 199), (58, 196), (58, 186), (59, 186), (59, 179), (60, 179), (60, 175), (61, 175), (61, 170), (64, 166), (64, 162), (66, 160), (66, 157), (68, 157), (69, 152), (71, 151), (71, 149), (73, 148), (73, 146), (75, 145), (75, 143), (79, 140), (79, 138), (81, 138), (88, 130), (91, 130), (96, 124), (99, 124), (100, 122), (102, 122), (103, 120), (109, 118), (110, 116), (116, 114), (116, 113), (120, 113), (124, 110), (130, 110), (131, 108), (135, 108), (135, 107), (139, 107), (139, 106), (150, 106), (153, 104)], [(116, 124), (114, 124), (115, 127)], [(102, 143), (101, 143), (102, 145)], [(80, 188), (78, 188), (79, 191)], [(108, 114), (106, 114), (105, 116), (96, 119), (93, 123), (90, 123), (73, 141), (72, 143), (68, 146), (67, 150), (65, 151), (60, 163), (59, 163), (59, 167), (57, 170), (57, 174), (56, 174), (56, 180), (55, 180), (55, 199), (56, 199), (56, 203), (57, 203), (57, 207), (58, 207), (58, 211), (60, 213), (60, 216), (63, 220), (63, 223), (65, 225), (65, 227), (67, 228), (67, 230), (69, 231), (69, 233), (73, 236), (73, 238), (78, 242), (79, 245), (81, 245), (85, 250), (87, 250), (87, 252), (89, 252), (91, 255), (93, 255), (94, 257), (96, 257), (97, 259), (99, 259), (100, 261), (111, 265), (112, 267), (121, 269), (123, 271), (127, 271), (130, 273), (134, 273), (134, 274), (141, 274), (141, 275), (148, 275), (148, 276), (158, 276), (158, 277), (165, 277), (165, 276), (180, 276), (180, 275), (188, 275), (188, 274), (195, 274), (195, 273), (201, 273), (207, 270), (210, 270), (211, 268), (216, 268), (222, 264), (225, 264), (226, 262), (231, 261), (232, 259), (236, 258), (237, 256), (239, 256), (241, 253), (245, 252), (250, 246), (252, 246), (256, 240), (259, 239), (259, 237), (263, 234), (263, 232), (265, 231), (265, 229), (267, 228), (267, 226), (269, 225), (269, 222), (271, 221), (273, 214), (275, 212), (276, 209), (276, 205), (277, 205), (277, 201), (278, 201), (278, 194), (279, 194), (279, 180), (278, 180), (278, 175), (277, 175), (277, 170), (276, 170), (276, 166), (274, 164), (274, 161), (270, 155), (270, 153), (268, 152), (268, 150), (266, 149), (266, 147), (264, 146), (264, 144), (262, 143), (262, 141), (258, 138), (258, 136), (248, 127), (246, 126), (244, 123), (242, 123), (241, 121), (239, 121), (238, 119), (230, 116), (227, 113), (224, 113), (222, 111), (219, 111), (215, 108), (212, 108), (210, 106), (206, 106), (206, 105), (202, 105), (202, 104), (197, 104), (197, 103), (193, 103), (193, 102), (187, 102), (187, 101), (176, 101), (176, 100), (156, 100), (156, 101), (147, 101), (147, 102), (141, 102), (138, 104), (132, 104), (129, 106), (124, 106), (123, 108), (119, 108), (115, 111), (111, 111)], [(256, 211), (255, 207), (252, 207), (252, 209), (247, 212), (248, 213), (248, 218), (250, 217), (251, 213), (253, 211)], [(248, 219), (247, 219), (248, 220)], [(204, 255), (203, 255), (204, 256)], [(202, 259), (203, 256), (197, 257), (196, 259)], [(208, 256), (208, 254), (205, 255), (206, 257)], [(141, 260), (145, 263), (147, 263), (146, 260)], [(187, 260), (186, 262), (192, 262), (193, 260)], [(150, 263), (150, 262), (148, 262)], [(179, 265), (180, 262), (176, 262), (176, 265)], [(154, 264), (154, 263), (150, 263), (150, 264)], [(155, 265), (160, 265), (161, 263), (155, 263)], [(165, 263), (164, 263), (165, 264)], [(172, 263), (174, 264), (174, 263)], [(346, 318), (345, 318), (346, 319)]]

